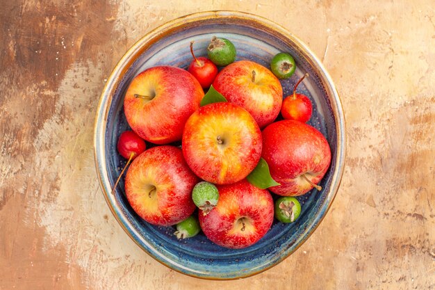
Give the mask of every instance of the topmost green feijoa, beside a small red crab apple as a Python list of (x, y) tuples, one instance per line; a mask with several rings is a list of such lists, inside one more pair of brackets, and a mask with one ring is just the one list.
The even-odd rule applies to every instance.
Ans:
[(236, 47), (226, 38), (213, 36), (207, 47), (207, 55), (215, 65), (223, 67), (236, 61)]

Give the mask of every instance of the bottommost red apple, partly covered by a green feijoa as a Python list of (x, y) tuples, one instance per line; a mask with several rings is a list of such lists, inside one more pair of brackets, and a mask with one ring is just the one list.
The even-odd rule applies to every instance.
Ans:
[(270, 229), (274, 216), (272, 195), (246, 179), (218, 185), (219, 202), (199, 225), (208, 239), (226, 248), (240, 249), (256, 243)]

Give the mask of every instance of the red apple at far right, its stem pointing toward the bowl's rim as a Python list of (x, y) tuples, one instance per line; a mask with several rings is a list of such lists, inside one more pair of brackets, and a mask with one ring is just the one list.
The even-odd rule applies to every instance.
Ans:
[(278, 195), (302, 195), (316, 187), (331, 162), (326, 138), (314, 127), (282, 120), (263, 130), (263, 159), (270, 175), (281, 184), (268, 188)]

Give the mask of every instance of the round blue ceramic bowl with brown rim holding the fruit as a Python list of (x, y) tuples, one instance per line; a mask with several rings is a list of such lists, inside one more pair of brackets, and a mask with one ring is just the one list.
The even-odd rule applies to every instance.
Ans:
[[(284, 95), (290, 95), (297, 79), (309, 72), (298, 92), (313, 102), (309, 124), (324, 134), (331, 147), (331, 166), (316, 190), (298, 198), (302, 214), (296, 223), (275, 222), (269, 232), (249, 248), (231, 250), (211, 243), (204, 234), (179, 241), (174, 227), (156, 227), (142, 220), (129, 206), (120, 182), (111, 188), (124, 167), (117, 153), (117, 139), (129, 129), (122, 104), (130, 81), (155, 65), (186, 68), (192, 58), (189, 44), (195, 40), (195, 54), (206, 55), (213, 35), (231, 40), (238, 60), (248, 59), (269, 67), (274, 54), (287, 51), (297, 70), (281, 81)], [(162, 264), (194, 277), (235, 279), (265, 271), (294, 252), (318, 227), (338, 190), (345, 156), (345, 124), (340, 99), (329, 74), (306, 45), (286, 29), (267, 19), (246, 13), (212, 11), (175, 19), (140, 39), (116, 65), (101, 94), (95, 124), (95, 162), (104, 197), (115, 218), (133, 241)]]

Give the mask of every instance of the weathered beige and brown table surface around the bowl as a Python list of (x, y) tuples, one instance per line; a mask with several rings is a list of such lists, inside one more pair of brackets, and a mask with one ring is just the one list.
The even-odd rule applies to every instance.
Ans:
[[(0, 289), (435, 289), (435, 3), (0, 0)], [(313, 49), (342, 98), (331, 210), (274, 268), (206, 281), (142, 252), (99, 188), (93, 124), (115, 63), (174, 17), (240, 10)]]

